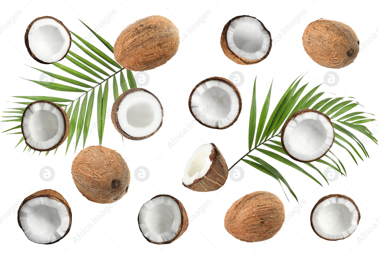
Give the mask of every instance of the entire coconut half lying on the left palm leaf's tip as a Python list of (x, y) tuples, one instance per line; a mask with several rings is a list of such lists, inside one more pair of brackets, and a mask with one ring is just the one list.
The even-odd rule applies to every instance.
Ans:
[(66, 112), (53, 102), (34, 101), (22, 114), (22, 135), (31, 149), (53, 150), (66, 140), (69, 130), (70, 120)]

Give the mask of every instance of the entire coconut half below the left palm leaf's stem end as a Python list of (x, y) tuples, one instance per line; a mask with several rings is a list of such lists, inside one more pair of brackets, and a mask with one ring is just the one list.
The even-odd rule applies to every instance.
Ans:
[(157, 133), (163, 122), (163, 108), (158, 98), (142, 88), (122, 93), (114, 102), (112, 123), (125, 138), (142, 140)]

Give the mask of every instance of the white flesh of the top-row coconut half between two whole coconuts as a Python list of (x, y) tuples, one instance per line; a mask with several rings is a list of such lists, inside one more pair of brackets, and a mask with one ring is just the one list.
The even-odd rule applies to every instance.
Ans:
[(258, 60), (270, 47), (270, 35), (254, 17), (233, 20), (226, 34), (232, 52), (248, 60)]

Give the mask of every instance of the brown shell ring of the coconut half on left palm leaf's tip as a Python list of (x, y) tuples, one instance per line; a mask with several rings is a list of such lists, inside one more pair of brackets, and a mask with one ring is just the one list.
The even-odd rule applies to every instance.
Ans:
[[(63, 130), (63, 134), (62, 134), (62, 137), (61, 139), (52, 147), (50, 147), (49, 149), (37, 149), (35, 147), (33, 147), (32, 145), (30, 145), (28, 143), (28, 139), (26, 138), (25, 134), (24, 134), (24, 129), (23, 129), (23, 119), (25, 117), (25, 113), (28, 111), (28, 109), (30, 108), (30, 106), (32, 106), (33, 104), (36, 104), (36, 103), (47, 103), (47, 104), (51, 104), (53, 105), (56, 109), (58, 109), (62, 116), (63, 116), (63, 126), (64, 126), (64, 130)], [(53, 149), (56, 149), (57, 147), (59, 147), (67, 138), (68, 134), (69, 134), (69, 130), (70, 130), (70, 120), (69, 120), (69, 117), (67, 117), (67, 114), (66, 112), (60, 107), (58, 106), (58, 104), (55, 104), (53, 102), (50, 102), (50, 101), (47, 101), (47, 100), (39, 100), (39, 101), (34, 101), (30, 104), (28, 104), (28, 106), (25, 108), (25, 111), (23, 112), (22, 114), (22, 118), (21, 118), (21, 132), (22, 132), (22, 136), (25, 138), (25, 144), (28, 145), (28, 147), (30, 147), (31, 149), (34, 149), (36, 151), (50, 151), (50, 150), (53, 150)]]

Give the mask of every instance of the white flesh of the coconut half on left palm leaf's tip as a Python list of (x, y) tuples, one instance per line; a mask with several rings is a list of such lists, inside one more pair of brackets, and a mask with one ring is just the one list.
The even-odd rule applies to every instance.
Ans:
[(62, 112), (49, 103), (35, 103), (23, 117), (23, 133), (28, 144), (36, 149), (56, 145), (64, 133)]

